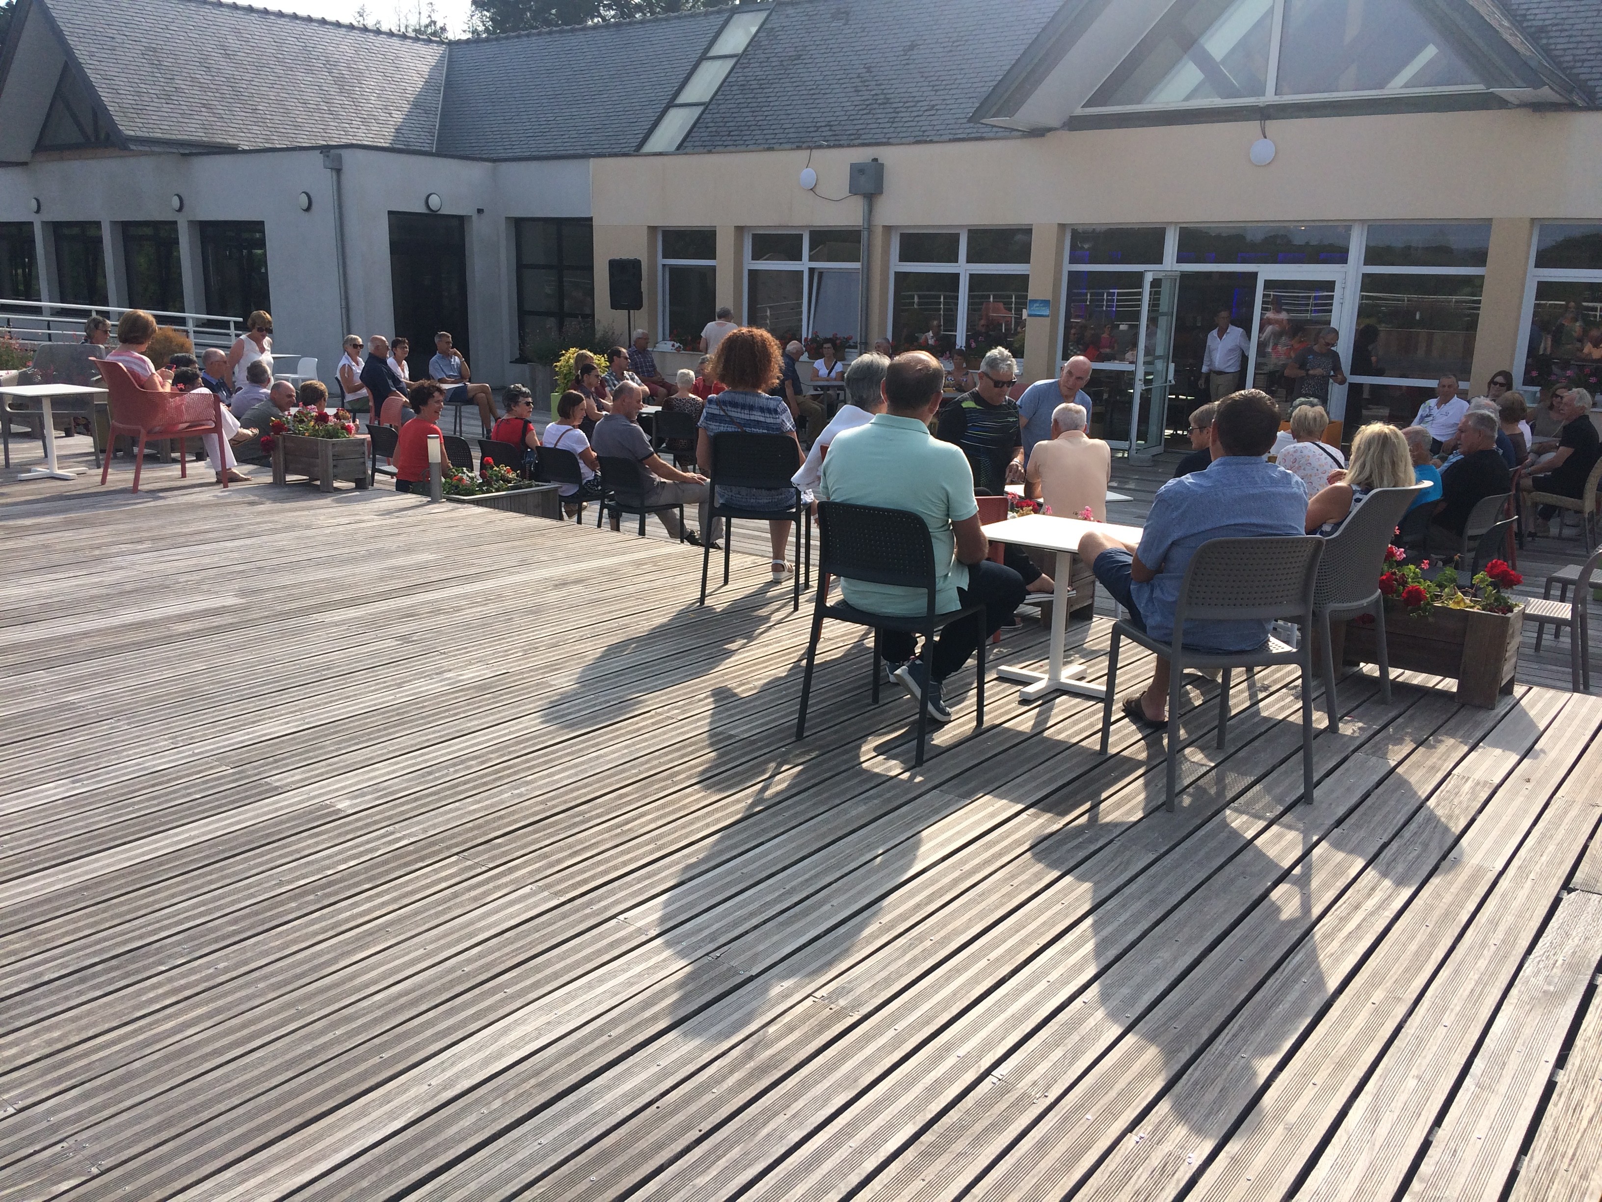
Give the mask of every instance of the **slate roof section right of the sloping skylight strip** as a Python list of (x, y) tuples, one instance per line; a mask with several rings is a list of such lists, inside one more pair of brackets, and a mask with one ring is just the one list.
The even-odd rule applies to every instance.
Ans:
[(684, 151), (1011, 138), (971, 120), (1062, 0), (780, 0)]

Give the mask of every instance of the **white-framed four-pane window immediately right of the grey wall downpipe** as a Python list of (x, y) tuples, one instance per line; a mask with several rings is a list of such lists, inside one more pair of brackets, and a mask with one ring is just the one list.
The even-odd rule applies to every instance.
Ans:
[(1030, 226), (899, 229), (891, 258), (891, 341), (1022, 353)]

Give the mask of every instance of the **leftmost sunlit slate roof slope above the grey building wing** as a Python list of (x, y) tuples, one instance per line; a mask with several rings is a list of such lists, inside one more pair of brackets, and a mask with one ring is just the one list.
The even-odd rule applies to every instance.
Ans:
[(442, 42), (210, 0), (43, 6), (136, 146), (434, 146)]

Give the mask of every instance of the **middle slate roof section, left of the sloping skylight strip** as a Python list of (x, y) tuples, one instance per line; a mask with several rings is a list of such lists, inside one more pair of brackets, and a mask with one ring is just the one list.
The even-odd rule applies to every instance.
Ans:
[(714, 10), (453, 42), (439, 152), (633, 154), (727, 16)]

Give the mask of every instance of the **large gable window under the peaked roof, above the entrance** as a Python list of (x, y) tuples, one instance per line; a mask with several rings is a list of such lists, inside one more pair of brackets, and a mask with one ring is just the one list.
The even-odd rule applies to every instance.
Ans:
[(1179, 0), (1086, 112), (1528, 87), (1418, 0)]

